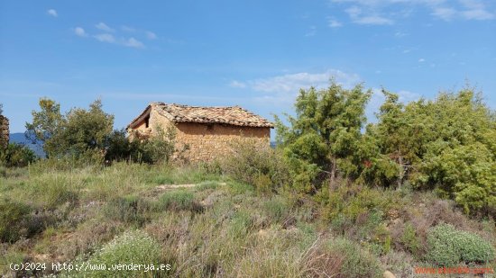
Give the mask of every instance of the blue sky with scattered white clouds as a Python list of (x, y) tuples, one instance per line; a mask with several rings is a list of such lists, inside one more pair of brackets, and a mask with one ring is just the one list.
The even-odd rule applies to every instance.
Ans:
[(0, 103), (23, 132), (41, 97), (96, 99), (124, 128), (150, 102), (268, 119), (329, 79), (409, 102), (467, 82), (496, 108), (496, 1), (0, 0)]

